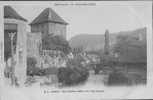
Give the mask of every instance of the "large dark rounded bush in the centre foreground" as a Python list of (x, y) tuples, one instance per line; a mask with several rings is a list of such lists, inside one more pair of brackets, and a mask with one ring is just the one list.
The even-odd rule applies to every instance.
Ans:
[(76, 85), (83, 83), (87, 80), (88, 76), (88, 70), (81, 66), (59, 68), (58, 70), (58, 81), (63, 85)]

